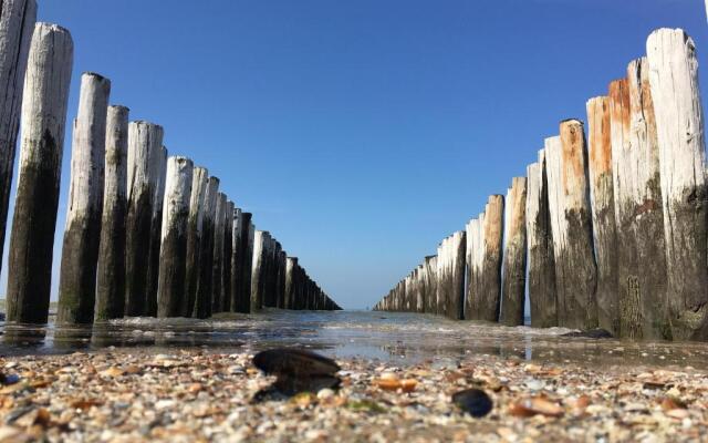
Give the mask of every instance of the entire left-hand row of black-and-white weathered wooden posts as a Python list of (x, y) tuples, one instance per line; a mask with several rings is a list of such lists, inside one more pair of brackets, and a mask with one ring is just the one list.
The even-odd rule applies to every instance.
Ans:
[[(34, 0), (1, 4), (0, 233), (20, 120), (22, 128), (7, 319), (45, 323), (73, 41), (59, 25), (35, 24)], [(251, 214), (219, 192), (219, 178), (187, 157), (168, 156), (163, 127), (128, 123), (128, 109), (110, 106), (110, 94), (107, 79), (82, 75), (58, 322), (340, 309), (275, 238), (256, 230)]]

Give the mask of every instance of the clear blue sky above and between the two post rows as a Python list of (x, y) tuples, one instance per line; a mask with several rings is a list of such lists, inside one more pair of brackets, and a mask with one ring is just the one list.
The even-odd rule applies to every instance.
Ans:
[(708, 65), (702, 0), (38, 2), (74, 38), (70, 119), (81, 73), (108, 76), (346, 308), (506, 193), (653, 29), (686, 29)]

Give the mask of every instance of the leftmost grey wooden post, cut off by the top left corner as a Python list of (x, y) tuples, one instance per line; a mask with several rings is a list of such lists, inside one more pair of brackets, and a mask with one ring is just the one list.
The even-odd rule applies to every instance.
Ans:
[[(35, 19), (37, 2), (34, 0), (2, 1), (0, 7), (0, 249), (4, 247), (24, 73)], [(1, 267), (2, 257), (0, 257)]]

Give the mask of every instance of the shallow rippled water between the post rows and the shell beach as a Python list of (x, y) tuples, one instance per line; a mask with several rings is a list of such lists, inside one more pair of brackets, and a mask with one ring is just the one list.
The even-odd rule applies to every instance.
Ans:
[(306, 347), (339, 358), (379, 359), (393, 364), (433, 360), (455, 364), (470, 353), (592, 367), (704, 368), (706, 343), (591, 340), (569, 329), (508, 328), (441, 317), (373, 311), (283, 311), (228, 315), (209, 320), (128, 318), (93, 328), (0, 326), (0, 354), (49, 354), (108, 347), (165, 352), (199, 348), (219, 352), (275, 346)]

